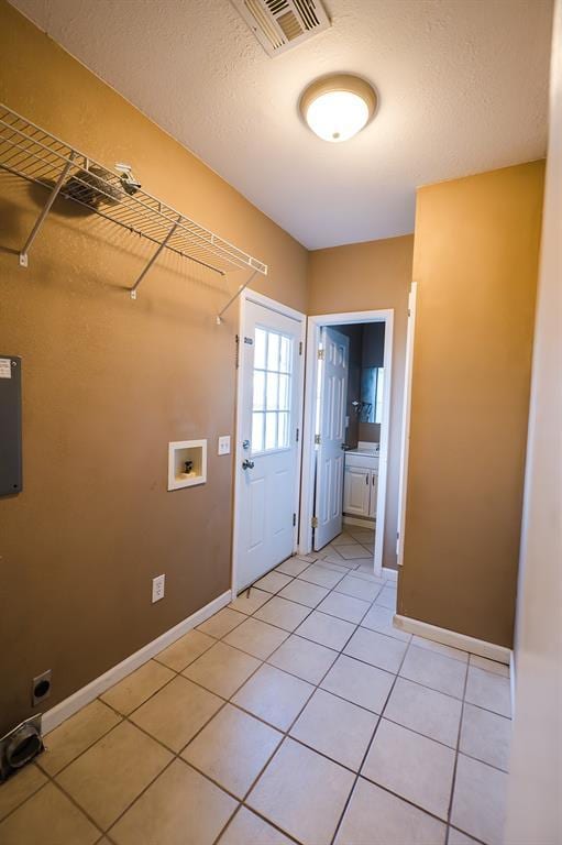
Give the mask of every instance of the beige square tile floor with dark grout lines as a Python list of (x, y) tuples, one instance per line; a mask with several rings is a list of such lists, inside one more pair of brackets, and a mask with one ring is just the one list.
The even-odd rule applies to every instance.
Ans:
[(47, 735), (2, 845), (500, 843), (507, 667), (393, 628), (372, 546), (285, 561)]

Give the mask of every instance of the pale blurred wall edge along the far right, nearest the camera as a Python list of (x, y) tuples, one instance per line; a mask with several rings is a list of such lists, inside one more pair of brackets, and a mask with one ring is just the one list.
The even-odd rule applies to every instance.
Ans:
[(535, 329), (506, 845), (562, 842), (562, 3)]

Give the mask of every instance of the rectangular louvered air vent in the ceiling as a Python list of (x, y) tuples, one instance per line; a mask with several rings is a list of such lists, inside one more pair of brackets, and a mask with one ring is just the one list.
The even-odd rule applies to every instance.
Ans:
[(232, 0), (267, 55), (277, 56), (330, 26), (320, 0)]

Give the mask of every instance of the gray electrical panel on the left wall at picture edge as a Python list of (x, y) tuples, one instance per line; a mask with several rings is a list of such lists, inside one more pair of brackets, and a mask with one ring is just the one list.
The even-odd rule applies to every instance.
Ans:
[(0, 354), (0, 496), (22, 489), (22, 360)]

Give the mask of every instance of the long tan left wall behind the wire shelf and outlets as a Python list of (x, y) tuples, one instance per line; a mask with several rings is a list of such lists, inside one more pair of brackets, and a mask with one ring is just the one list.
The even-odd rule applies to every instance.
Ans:
[[(263, 293), (306, 310), (307, 252), (200, 161), (0, 2), (0, 101), (271, 265)], [(35, 196), (35, 193), (34, 193)], [(44, 200), (44, 193), (36, 194)], [(236, 310), (212, 273), (62, 201), (18, 265), (37, 206), (0, 176), (0, 352), (23, 358), (24, 491), (0, 500), (0, 734), (55, 704), (230, 585)], [(191, 277), (190, 277), (191, 276)], [(205, 486), (166, 491), (169, 440), (209, 438)], [(151, 604), (151, 580), (166, 597)]]

